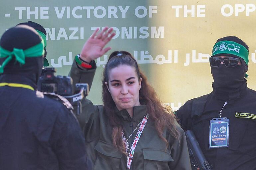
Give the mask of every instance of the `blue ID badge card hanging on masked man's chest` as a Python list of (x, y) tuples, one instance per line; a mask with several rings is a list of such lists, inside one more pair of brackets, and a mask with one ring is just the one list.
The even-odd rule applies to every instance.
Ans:
[(229, 119), (213, 118), (210, 121), (209, 148), (228, 147)]

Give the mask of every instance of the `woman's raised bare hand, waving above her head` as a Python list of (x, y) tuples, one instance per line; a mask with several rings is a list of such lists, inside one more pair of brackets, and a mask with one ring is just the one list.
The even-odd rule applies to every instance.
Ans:
[(105, 47), (105, 45), (115, 36), (113, 28), (105, 27), (101, 32), (97, 34), (99, 28), (97, 28), (90, 38), (84, 43), (80, 57), (86, 62), (91, 62), (96, 58), (101, 57), (105, 54), (111, 47)]

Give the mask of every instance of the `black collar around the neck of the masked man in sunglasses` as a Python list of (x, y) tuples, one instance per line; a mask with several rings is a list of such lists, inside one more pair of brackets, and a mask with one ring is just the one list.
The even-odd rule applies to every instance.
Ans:
[(212, 84), (213, 94), (216, 99), (233, 100), (244, 96), (247, 92), (247, 83), (245, 82), (237, 89), (223, 90), (221, 88), (215, 88)]

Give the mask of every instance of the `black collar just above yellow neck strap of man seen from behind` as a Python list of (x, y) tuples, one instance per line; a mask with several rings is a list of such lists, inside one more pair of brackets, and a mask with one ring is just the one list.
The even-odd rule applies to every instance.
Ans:
[(2, 74), (0, 75), (0, 83), (18, 83), (23, 85), (30, 85), (35, 90), (37, 89), (35, 82), (22, 75)]

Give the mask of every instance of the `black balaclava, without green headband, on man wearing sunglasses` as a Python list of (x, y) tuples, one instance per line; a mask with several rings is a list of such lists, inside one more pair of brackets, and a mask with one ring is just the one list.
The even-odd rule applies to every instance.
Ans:
[[(235, 36), (223, 37), (218, 39), (216, 43), (220, 41), (233, 41), (235, 43), (238, 43), (244, 46), (247, 49), (247, 51), (249, 51), (249, 48), (245, 44), (245, 42), (243, 42), (238, 37), (235, 37)], [(214, 82), (212, 83), (213, 89), (215, 90), (220, 89), (221, 91), (232, 91), (232, 90), (238, 89), (241, 85), (246, 83), (246, 80), (244, 77), (245, 77), (245, 73), (248, 70), (248, 65), (246, 64), (243, 58), (246, 59), (247, 57), (248, 59), (248, 55), (243, 56), (243, 58), (241, 58), (234, 54), (219, 53), (216, 55), (212, 55), (212, 57), (217, 57), (222, 55), (239, 58), (241, 61), (241, 65), (237, 65), (235, 67), (226, 67), (224, 64), (220, 64), (218, 67), (211, 66), (211, 74), (214, 80)]]

